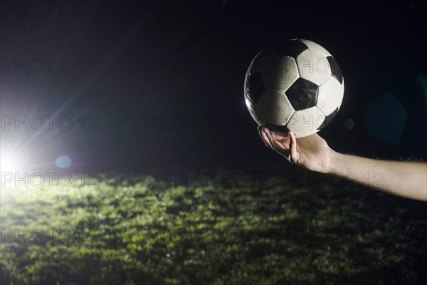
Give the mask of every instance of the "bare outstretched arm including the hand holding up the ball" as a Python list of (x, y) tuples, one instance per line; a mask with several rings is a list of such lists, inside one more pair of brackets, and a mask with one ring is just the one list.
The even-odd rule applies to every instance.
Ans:
[(345, 177), (401, 197), (427, 201), (427, 163), (344, 155), (332, 150), (317, 134), (297, 141), (292, 132), (289, 137), (281, 137), (265, 127), (258, 127), (258, 131), (265, 145), (295, 165)]

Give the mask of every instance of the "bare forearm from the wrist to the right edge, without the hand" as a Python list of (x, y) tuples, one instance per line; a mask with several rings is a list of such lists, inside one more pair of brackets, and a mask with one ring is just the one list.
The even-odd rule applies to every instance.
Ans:
[(373, 160), (334, 152), (327, 172), (394, 195), (427, 201), (427, 163)]

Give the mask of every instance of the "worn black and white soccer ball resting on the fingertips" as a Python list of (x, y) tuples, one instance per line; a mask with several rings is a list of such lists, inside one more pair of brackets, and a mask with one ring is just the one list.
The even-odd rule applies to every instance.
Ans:
[(296, 138), (317, 133), (337, 115), (344, 78), (322, 46), (302, 38), (264, 48), (248, 68), (245, 101), (258, 125)]

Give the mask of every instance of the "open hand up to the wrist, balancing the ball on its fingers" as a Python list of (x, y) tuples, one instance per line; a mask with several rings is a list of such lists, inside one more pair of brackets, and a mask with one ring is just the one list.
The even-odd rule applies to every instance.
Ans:
[(330, 172), (331, 160), (335, 152), (319, 135), (309, 135), (298, 138), (297, 141), (292, 132), (288, 133), (288, 137), (283, 137), (263, 126), (258, 126), (258, 132), (267, 147), (286, 157), (290, 163), (308, 170)]

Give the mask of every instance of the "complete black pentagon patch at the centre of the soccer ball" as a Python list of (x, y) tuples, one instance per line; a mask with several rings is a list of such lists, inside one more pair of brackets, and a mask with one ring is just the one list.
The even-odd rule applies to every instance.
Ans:
[(304, 110), (317, 104), (319, 86), (304, 78), (298, 78), (285, 93), (295, 110)]

